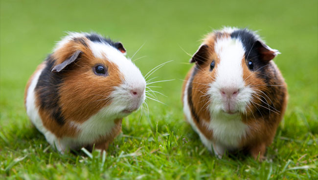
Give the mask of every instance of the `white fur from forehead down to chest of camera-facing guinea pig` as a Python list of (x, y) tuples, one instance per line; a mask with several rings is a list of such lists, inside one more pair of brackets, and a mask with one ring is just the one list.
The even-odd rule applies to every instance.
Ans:
[(246, 112), (252, 90), (245, 86), (243, 80), (242, 59), (245, 50), (239, 39), (226, 38), (216, 42), (215, 52), (219, 56), (220, 63), (214, 69), (216, 78), (208, 90), (212, 101), (209, 106), (211, 120), (207, 127), (213, 130), (213, 139), (218, 146), (233, 149), (239, 146), (239, 142), (246, 136), (249, 128), (242, 122), (238, 114), (229, 115), (223, 112), (224, 98), (220, 89), (239, 89), (235, 98), (235, 109), (243, 113)]

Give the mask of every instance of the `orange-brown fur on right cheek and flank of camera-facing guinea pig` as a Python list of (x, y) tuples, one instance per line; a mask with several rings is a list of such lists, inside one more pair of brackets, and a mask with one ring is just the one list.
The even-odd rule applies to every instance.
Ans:
[[(271, 62), (272, 63), (272, 62)], [(266, 146), (269, 146), (273, 138), (275, 136), (277, 127), (279, 125), (279, 122), (282, 120), (283, 115), (285, 113), (285, 109), (287, 106), (287, 85), (284, 82), (283, 77), (280, 74), (279, 69), (276, 67), (276, 65), (273, 65), (274, 71), (278, 72), (276, 75), (273, 74), (274, 71), (268, 72), (268, 76), (275, 76), (275, 79), (270, 80), (270, 85), (281, 85), (281, 86), (271, 86), (271, 88), (276, 89), (277, 91), (281, 92), (283, 96), (279, 95), (273, 95), (269, 92), (269, 86), (266, 85), (266, 82), (264, 82), (262, 79), (257, 78), (255, 72), (251, 72), (248, 67), (245, 65), (245, 59), (242, 60), (242, 67), (243, 67), (243, 79), (246, 82), (246, 85), (251, 86), (254, 89), (256, 94), (253, 95), (252, 101), (255, 104), (250, 104), (248, 107), (247, 115), (242, 115), (242, 122), (246, 123), (250, 127), (250, 131), (248, 135), (242, 139), (240, 146), (241, 147), (248, 147), (250, 149), (250, 153), (252, 157), (255, 159), (260, 154), (260, 158), (262, 158), (266, 152)], [(273, 63), (272, 63), (273, 64)], [(272, 74), (271, 74), (272, 73)], [(264, 95), (263, 93), (266, 95)], [(278, 98), (276, 98), (278, 96)], [(263, 97), (263, 99), (262, 99)], [(253, 115), (255, 112), (257, 113), (259, 111), (259, 108), (265, 108), (260, 107), (259, 104), (262, 104), (262, 102), (266, 102), (269, 104), (269, 107), (271, 108), (275, 107), (277, 112), (270, 112), (269, 116), (265, 117), (256, 117)], [(272, 106), (272, 107), (271, 107)], [(273, 110), (273, 111), (276, 111)], [(270, 110), (269, 110), (270, 111)]]

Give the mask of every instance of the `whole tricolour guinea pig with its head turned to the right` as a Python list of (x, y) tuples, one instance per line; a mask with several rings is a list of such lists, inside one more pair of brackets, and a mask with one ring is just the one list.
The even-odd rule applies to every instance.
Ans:
[(120, 42), (69, 33), (27, 82), (26, 112), (61, 153), (105, 150), (145, 100), (145, 79)]

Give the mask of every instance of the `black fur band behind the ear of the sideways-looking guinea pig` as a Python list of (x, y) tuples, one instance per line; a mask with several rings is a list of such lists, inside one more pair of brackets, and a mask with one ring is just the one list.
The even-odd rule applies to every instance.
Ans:
[(54, 61), (51, 55), (47, 57), (46, 67), (39, 77), (35, 91), (39, 95), (40, 109), (50, 112), (51, 117), (63, 125), (65, 119), (59, 106), (59, 87), (63, 82), (63, 72), (51, 72)]

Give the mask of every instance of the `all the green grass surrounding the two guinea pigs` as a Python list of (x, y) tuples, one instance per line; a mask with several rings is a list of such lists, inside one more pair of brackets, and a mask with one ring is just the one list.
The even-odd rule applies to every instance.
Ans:
[[(0, 0), (0, 179), (318, 179), (317, 0), (35, 1)], [(204, 34), (222, 26), (259, 30), (282, 53), (275, 61), (290, 101), (267, 158), (210, 155), (184, 122), (182, 80)], [(65, 31), (96, 31), (123, 42), (143, 74), (167, 95), (148, 101), (149, 115), (123, 121), (107, 154), (60, 155), (31, 126), (23, 90), (37, 64)], [(181, 48), (182, 47), (182, 48)]]

